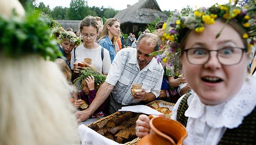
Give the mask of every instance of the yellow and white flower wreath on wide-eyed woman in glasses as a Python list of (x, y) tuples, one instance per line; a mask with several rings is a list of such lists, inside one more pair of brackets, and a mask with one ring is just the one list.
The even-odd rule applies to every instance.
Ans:
[[(216, 18), (225, 18), (226, 24), (223, 28), (231, 19), (241, 24), (246, 31), (246, 33), (242, 35), (242, 38), (250, 39), (251, 41), (248, 47), (252, 47), (254, 44), (252, 38), (256, 36), (256, 25), (255, 22), (251, 21), (253, 17), (250, 17), (249, 11), (253, 11), (253, 9), (247, 10), (228, 3), (225, 5), (215, 4), (208, 9), (200, 8), (186, 17), (176, 13), (174, 17), (163, 25), (165, 34), (162, 39), (168, 39), (170, 42), (179, 44), (187, 29), (201, 33), (204, 30), (203, 24), (211, 25), (215, 23)], [(219, 34), (217, 34), (216, 38), (220, 36), (222, 29)]]

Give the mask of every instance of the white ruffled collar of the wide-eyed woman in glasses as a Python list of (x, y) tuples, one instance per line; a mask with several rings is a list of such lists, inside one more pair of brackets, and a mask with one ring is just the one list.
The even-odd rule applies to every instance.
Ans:
[(186, 117), (200, 118), (213, 128), (238, 127), (244, 117), (252, 112), (256, 105), (256, 79), (246, 77), (241, 90), (231, 100), (215, 105), (203, 104), (194, 92), (188, 98)]

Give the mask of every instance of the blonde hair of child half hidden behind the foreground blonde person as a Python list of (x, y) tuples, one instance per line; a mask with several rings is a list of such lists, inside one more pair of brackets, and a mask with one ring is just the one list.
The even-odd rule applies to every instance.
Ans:
[(69, 84), (72, 84), (71, 82), (71, 70), (68, 67), (68, 64), (62, 60), (61, 58), (57, 58), (57, 60), (54, 61), (58, 67), (60, 68), (63, 75), (67, 75), (67, 82)]

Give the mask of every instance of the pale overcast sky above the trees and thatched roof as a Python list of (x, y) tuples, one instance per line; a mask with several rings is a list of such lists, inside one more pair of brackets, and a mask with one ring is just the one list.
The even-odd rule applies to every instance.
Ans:
[[(215, 3), (224, 4), (228, 3), (229, 0), (156, 0), (160, 9), (164, 10), (181, 10), (182, 8), (190, 5), (191, 8), (197, 8), (201, 6), (211, 6)], [(49, 5), (51, 9), (55, 8), (55, 6), (62, 6), (69, 8), (69, 3), (71, 0), (36, 0), (37, 3), (43, 2), (45, 5)], [(127, 4), (133, 5), (138, 2), (138, 0), (87, 0), (88, 6), (97, 6), (101, 8), (113, 8), (115, 10), (123, 10), (127, 8)]]

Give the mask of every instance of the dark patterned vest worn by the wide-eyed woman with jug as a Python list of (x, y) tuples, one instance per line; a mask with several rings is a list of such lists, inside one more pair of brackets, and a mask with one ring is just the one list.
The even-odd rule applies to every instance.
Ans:
[[(191, 93), (185, 94), (177, 110), (177, 121), (187, 126), (188, 117), (185, 117), (185, 110), (188, 109), (188, 97)], [(256, 144), (256, 108), (247, 115), (238, 128), (228, 129), (222, 136), (219, 144)]]

